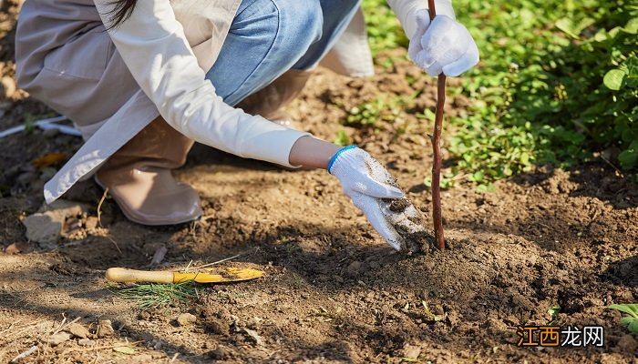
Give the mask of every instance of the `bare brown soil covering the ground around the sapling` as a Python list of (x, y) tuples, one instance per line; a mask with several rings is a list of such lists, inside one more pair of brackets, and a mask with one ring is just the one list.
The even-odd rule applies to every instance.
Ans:
[[(16, 11), (15, 1), (0, 11), (0, 76), (8, 78)], [(345, 130), (386, 164), (429, 224), (423, 180), (432, 121), (417, 113), (434, 107), (435, 80), (403, 51), (377, 64), (390, 56), (394, 65), (377, 66), (370, 79), (319, 70), (289, 111), (316, 136), (332, 140)], [(342, 125), (352, 106), (414, 90), (423, 92), (394, 122)], [(465, 97), (450, 95), (446, 115), (462, 115), (466, 106)], [(5, 95), (0, 109), (0, 130), (50, 113), (21, 91)], [(33, 249), (0, 253), (0, 362), (34, 346), (22, 362), (638, 362), (621, 315), (605, 308), (638, 301), (638, 187), (602, 162), (571, 171), (539, 167), (490, 194), (460, 181), (442, 193), (451, 248), (401, 254), (325, 171), (287, 171), (198, 145), (176, 173), (201, 195), (198, 222), (142, 227), (107, 199), (96, 226), (102, 191), (86, 181), (65, 196), (89, 206), (69, 222), (72, 233), (53, 250), (27, 242), (21, 220), (42, 206), (42, 186), (60, 166), (32, 161), (51, 152), (70, 156), (80, 145), (41, 130), (0, 141), (0, 246)], [(139, 311), (108, 290), (104, 271), (150, 268), (161, 245), (168, 252), (153, 269), (239, 255), (221, 266), (258, 268), (265, 277), (201, 286), (189, 303)], [(518, 348), (517, 326), (549, 324), (554, 305), (563, 327), (602, 326), (604, 346)], [(184, 312), (195, 316), (192, 325), (178, 324)], [(66, 330), (65, 318), (79, 318), (89, 339), (46, 342)], [(112, 335), (96, 335), (104, 319)], [(127, 340), (134, 353), (113, 349)]]

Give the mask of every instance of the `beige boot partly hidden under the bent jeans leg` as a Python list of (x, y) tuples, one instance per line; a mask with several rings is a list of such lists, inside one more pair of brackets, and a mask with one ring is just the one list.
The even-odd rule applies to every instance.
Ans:
[(273, 123), (299, 130), (301, 124), (295, 122), (290, 114), (283, 111), (283, 107), (288, 106), (302, 93), (312, 74), (312, 70), (290, 69), (275, 79), (272, 84), (244, 98), (237, 107), (248, 114), (260, 115)]

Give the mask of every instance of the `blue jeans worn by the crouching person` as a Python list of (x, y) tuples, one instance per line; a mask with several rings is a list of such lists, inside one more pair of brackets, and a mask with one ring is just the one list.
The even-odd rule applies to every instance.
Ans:
[(242, 0), (206, 79), (235, 106), (284, 72), (315, 66), (360, 0)]

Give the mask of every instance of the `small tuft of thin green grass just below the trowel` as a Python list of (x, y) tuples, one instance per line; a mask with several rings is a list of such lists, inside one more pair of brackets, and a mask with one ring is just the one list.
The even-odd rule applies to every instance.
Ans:
[(197, 298), (198, 287), (200, 286), (197, 283), (187, 281), (175, 284), (134, 283), (124, 287), (111, 286), (108, 289), (119, 298), (134, 301), (140, 310), (147, 310)]

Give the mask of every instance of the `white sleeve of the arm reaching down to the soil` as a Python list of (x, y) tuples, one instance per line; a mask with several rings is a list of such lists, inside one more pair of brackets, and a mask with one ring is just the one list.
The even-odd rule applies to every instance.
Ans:
[[(108, 25), (115, 2), (94, 2)], [(204, 78), (169, 0), (138, 1), (129, 19), (108, 34), (170, 126), (225, 152), (293, 167), (288, 161), (290, 150), (299, 137), (309, 134), (225, 104)]]

